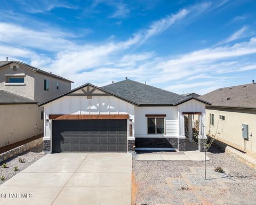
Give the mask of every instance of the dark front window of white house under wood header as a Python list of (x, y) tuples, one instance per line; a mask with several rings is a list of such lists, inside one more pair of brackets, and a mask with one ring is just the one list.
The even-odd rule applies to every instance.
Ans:
[(164, 134), (164, 118), (148, 118), (148, 134)]

